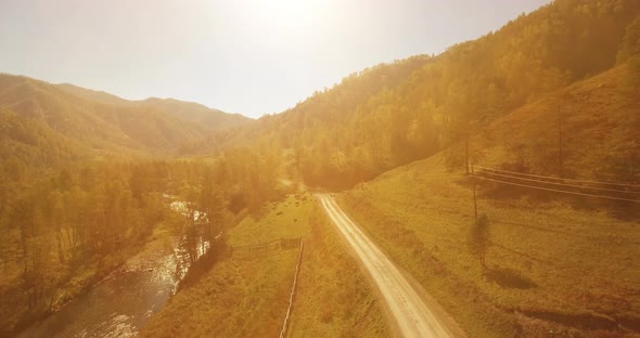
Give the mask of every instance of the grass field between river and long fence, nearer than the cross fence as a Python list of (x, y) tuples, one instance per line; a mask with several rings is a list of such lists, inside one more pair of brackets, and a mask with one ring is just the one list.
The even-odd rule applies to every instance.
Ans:
[(293, 251), (222, 260), (174, 296), (140, 337), (278, 336), (293, 264)]

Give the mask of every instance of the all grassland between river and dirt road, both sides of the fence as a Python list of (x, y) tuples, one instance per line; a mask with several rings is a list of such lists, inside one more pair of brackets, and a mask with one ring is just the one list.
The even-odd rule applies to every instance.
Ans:
[[(386, 336), (382, 311), (346, 247), (309, 194), (289, 196), (228, 233), (233, 246), (305, 238), (290, 336)], [(236, 252), (182, 288), (140, 337), (277, 337), (297, 249)]]

